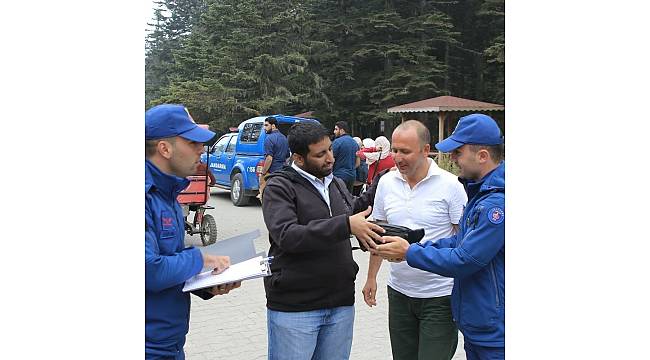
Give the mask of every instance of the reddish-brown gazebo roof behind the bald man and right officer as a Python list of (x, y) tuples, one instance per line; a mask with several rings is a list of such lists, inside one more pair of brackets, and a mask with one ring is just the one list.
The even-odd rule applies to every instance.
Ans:
[(503, 111), (505, 106), (455, 96), (438, 96), (388, 109), (389, 113), (441, 112), (441, 111)]

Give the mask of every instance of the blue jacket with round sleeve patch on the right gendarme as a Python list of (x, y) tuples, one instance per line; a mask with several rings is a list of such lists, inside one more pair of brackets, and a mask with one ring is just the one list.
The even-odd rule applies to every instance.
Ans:
[(406, 261), (454, 278), (452, 313), (466, 342), (504, 347), (505, 162), (480, 181), (463, 183), (470, 200), (460, 232), (435, 243), (411, 245)]

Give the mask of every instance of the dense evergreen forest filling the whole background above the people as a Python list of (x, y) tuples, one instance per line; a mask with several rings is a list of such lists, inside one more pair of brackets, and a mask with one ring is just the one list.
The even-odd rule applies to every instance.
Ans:
[(145, 105), (184, 103), (216, 129), (309, 110), (375, 128), (406, 102), (504, 100), (503, 0), (157, 4)]

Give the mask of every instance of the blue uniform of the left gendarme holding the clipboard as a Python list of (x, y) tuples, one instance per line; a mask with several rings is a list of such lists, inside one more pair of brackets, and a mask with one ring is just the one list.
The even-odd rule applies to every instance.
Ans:
[(175, 357), (189, 328), (190, 294), (185, 280), (203, 267), (199, 249), (184, 248), (183, 210), (176, 201), (189, 180), (160, 171), (145, 160), (145, 353)]

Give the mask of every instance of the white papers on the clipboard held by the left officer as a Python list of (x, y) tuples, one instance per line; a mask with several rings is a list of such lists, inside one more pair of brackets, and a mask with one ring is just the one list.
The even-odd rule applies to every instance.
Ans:
[(269, 263), (271, 259), (272, 257), (269, 258), (257, 256), (252, 259), (230, 265), (229, 268), (217, 275), (212, 274), (212, 270), (204, 271), (192, 276), (187, 281), (185, 281), (183, 292), (270, 276), (271, 268), (269, 266)]

